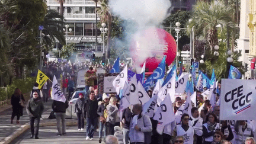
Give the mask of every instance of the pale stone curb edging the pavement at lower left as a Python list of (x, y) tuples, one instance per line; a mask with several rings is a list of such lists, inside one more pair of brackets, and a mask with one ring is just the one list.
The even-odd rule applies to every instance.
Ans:
[[(56, 126), (57, 122), (50, 122), (50, 123), (40, 123), (39, 127), (45, 127), (45, 126)], [(76, 126), (77, 122), (75, 121), (68, 121), (66, 122), (66, 126)], [(22, 133), (24, 133), (26, 130), (30, 129), (30, 123), (26, 123), (22, 125), (20, 128), (18, 128), (12, 135), (5, 137), (3, 142), (0, 142), (0, 144), (8, 144), (12, 142), (15, 138), (20, 136)]]

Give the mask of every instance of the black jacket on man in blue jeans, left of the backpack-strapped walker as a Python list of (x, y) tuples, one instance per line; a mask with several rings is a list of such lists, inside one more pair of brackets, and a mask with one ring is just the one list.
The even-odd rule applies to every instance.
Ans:
[(85, 111), (84, 111), (85, 118), (89, 118), (89, 119), (97, 118), (98, 117), (97, 110), (98, 110), (98, 101), (97, 100), (91, 101), (88, 98), (85, 103)]

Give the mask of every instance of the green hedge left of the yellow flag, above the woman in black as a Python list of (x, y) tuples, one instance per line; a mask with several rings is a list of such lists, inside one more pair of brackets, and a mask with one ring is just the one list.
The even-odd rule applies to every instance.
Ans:
[(12, 85), (7, 86), (8, 99), (10, 99), (11, 95), (14, 94), (15, 88), (20, 88), (23, 95), (26, 94), (27, 92), (30, 92), (35, 82), (36, 82), (36, 78), (32, 78), (32, 77), (27, 77), (26, 80), (15, 79), (12, 82)]

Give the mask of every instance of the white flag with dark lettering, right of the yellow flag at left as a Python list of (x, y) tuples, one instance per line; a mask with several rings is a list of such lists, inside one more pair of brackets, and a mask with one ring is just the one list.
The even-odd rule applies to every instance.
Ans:
[(65, 95), (63, 95), (62, 90), (60, 90), (60, 85), (57, 83), (55, 75), (53, 76), (53, 85), (52, 85), (52, 100), (66, 102)]

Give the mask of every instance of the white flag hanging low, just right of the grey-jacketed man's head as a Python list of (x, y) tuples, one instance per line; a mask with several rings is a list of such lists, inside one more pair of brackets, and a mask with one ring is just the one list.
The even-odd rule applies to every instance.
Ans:
[(156, 126), (156, 132), (162, 135), (164, 126), (175, 120), (174, 111), (172, 108), (172, 102), (169, 94), (165, 97), (164, 101), (161, 102), (160, 107), (156, 109), (154, 120), (158, 121)]

